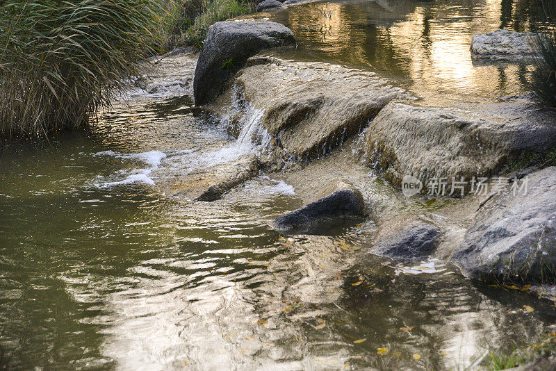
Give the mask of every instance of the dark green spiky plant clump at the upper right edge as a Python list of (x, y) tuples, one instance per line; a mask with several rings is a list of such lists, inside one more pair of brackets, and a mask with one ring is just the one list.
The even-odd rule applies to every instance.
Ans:
[(539, 58), (526, 87), (549, 106), (556, 107), (556, 1), (541, 1), (538, 17), (541, 22), (534, 46)]

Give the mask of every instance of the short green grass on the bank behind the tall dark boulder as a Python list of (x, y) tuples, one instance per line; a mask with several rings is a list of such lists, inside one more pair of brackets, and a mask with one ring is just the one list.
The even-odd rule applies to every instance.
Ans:
[(251, 13), (255, 4), (256, 0), (174, 0), (170, 43), (200, 48), (212, 24)]

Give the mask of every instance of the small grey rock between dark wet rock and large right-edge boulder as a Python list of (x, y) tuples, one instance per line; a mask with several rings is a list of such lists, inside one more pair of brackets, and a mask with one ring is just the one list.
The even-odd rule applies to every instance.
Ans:
[(441, 231), (432, 224), (414, 222), (410, 226), (380, 239), (370, 252), (389, 258), (415, 259), (431, 254)]

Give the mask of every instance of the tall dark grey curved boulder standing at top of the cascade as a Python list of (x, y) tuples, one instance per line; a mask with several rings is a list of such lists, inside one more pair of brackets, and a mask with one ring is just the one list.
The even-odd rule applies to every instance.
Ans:
[(263, 49), (295, 47), (291, 30), (275, 22), (216, 22), (199, 55), (193, 83), (195, 104), (206, 104), (224, 90), (245, 60)]

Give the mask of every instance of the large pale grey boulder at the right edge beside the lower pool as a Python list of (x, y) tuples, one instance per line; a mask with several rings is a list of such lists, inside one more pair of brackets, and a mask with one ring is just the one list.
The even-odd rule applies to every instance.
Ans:
[(526, 195), (509, 192), (480, 209), (452, 256), (471, 279), (555, 282), (556, 167), (530, 174), (528, 185)]

